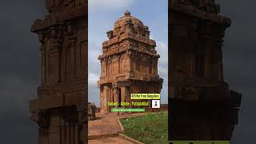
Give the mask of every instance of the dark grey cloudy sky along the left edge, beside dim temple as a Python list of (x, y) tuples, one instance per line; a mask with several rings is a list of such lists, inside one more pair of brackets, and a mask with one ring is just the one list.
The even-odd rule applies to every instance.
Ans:
[(1, 1), (0, 4), (0, 143), (35, 144), (38, 126), (30, 121), (28, 101), (39, 85), (39, 42), (30, 26), (44, 18), (45, 2)]

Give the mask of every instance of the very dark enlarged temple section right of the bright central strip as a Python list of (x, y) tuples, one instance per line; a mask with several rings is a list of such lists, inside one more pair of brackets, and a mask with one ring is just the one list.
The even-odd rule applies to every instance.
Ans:
[(242, 94), (223, 78), (222, 42), (230, 18), (214, 0), (169, 5), (169, 138), (230, 140)]

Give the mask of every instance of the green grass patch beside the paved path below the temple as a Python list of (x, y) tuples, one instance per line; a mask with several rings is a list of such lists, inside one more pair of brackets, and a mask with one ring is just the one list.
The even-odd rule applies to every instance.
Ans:
[(144, 143), (168, 143), (168, 114), (158, 112), (145, 116), (122, 118), (124, 134)]

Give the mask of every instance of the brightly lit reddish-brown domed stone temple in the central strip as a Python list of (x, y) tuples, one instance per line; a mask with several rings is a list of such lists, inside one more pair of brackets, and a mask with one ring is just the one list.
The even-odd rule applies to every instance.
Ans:
[[(130, 15), (114, 23), (114, 30), (106, 32), (103, 42), (100, 87), (101, 112), (110, 112), (107, 102), (130, 102), (130, 94), (160, 93), (162, 78), (158, 76), (159, 54), (150, 30), (142, 21)], [(115, 106), (118, 107), (118, 106)]]

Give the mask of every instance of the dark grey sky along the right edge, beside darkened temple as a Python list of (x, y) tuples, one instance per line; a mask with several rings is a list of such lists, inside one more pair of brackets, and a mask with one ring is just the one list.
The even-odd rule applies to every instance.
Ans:
[(232, 144), (254, 143), (256, 130), (256, 1), (218, 0), (221, 14), (232, 20), (226, 30), (223, 63), (226, 82), (231, 90), (242, 93), (239, 123)]

